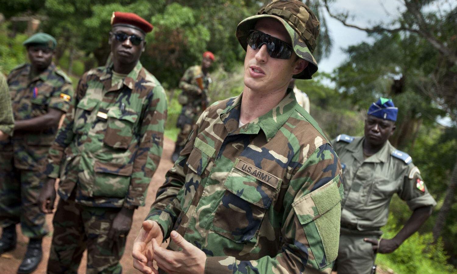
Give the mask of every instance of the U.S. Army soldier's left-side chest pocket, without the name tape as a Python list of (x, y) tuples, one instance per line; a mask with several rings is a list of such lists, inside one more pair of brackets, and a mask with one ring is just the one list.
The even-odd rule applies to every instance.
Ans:
[(186, 165), (193, 172), (198, 175), (202, 175), (215, 152), (215, 148), (197, 137), (195, 138), (194, 149), (192, 149), (191, 154), (189, 154), (189, 158), (187, 158)]

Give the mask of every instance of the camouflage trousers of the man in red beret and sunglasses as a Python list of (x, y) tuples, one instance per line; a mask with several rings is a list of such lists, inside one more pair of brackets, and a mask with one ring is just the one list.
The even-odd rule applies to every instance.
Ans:
[(90, 207), (76, 204), (74, 193), (60, 199), (53, 219), (54, 233), (48, 273), (78, 273), (87, 248), (87, 274), (121, 274), (119, 260), (127, 237), (107, 238), (120, 208)]

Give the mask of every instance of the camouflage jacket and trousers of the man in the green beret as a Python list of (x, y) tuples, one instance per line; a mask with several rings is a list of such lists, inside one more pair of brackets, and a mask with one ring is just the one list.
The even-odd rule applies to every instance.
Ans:
[[(49, 108), (67, 112), (73, 99), (71, 80), (51, 64), (41, 74), (29, 78), (30, 64), (14, 68), (8, 86), (15, 120), (32, 119)], [(48, 233), (37, 198), (46, 177), (46, 157), (58, 125), (37, 132), (14, 132), (8, 142), (0, 142), (0, 220), (7, 227), (21, 222), (22, 233), (41, 238)]]

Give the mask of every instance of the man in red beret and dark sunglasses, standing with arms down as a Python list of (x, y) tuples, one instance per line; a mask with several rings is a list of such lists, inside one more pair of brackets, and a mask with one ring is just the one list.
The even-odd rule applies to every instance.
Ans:
[(85, 249), (88, 274), (122, 272), (133, 211), (162, 154), (165, 91), (139, 62), (153, 26), (122, 12), (111, 25), (112, 60), (82, 76), (49, 150), (41, 210), (53, 211), (56, 178), (60, 201), (48, 273), (76, 273)]

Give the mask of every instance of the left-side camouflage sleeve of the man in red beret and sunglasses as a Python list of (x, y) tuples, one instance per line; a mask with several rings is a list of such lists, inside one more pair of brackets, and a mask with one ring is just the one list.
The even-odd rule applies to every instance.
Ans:
[[(85, 89), (87, 85), (85, 84), (85, 76), (84, 74), (80, 81), (78, 82), (78, 87), (76, 88), (76, 96), (71, 98), (70, 102), (68, 103), (67, 113), (65, 114), (64, 122), (62, 126), (57, 132), (56, 138), (49, 148), (48, 153), (48, 165), (46, 166), (45, 174), (51, 178), (59, 178), (60, 175), (60, 163), (64, 158), (64, 150), (73, 140), (74, 132), (73, 132), (73, 123), (74, 123), (74, 110), (76, 105), (78, 105), (78, 101), (83, 97), (85, 94)], [(66, 103), (62, 103), (62, 110), (66, 109)]]

